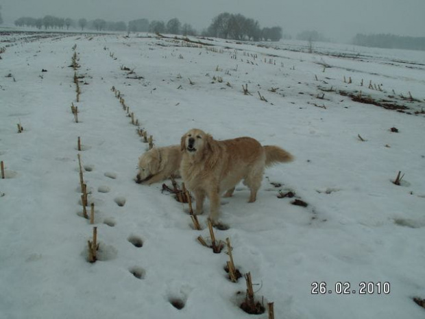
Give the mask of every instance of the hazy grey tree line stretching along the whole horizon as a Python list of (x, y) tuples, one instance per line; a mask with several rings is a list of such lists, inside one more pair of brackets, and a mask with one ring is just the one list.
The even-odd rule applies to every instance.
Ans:
[[(87, 21), (86, 19), (73, 20), (47, 15), (39, 19), (24, 16), (14, 21), (14, 23), (20, 27), (36, 27), (38, 29), (69, 29), (69, 27), (75, 27), (81, 30), (93, 29), (98, 32), (151, 32), (156, 34), (180, 34), (183, 36), (210, 36), (232, 40), (278, 41), (282, 38), (291, 38), (291, 36), (282, 34), (282, 27), (261, 28), (258, 21), (254, 19), (246, 18), (242, 14), (230, 14), (228, 12), (215, 16), (210, 25), (201, 33), (198, 33), (189, 23), (181, 23), (177, 18), (170, 19), (167, 23), (158, 20), (149, 21), (148, 19), (136, 19), (125, 23), (123, 21), (110, 22), (104, 19), (95, 19), (93, 21)], [(309, 42), (330, 41), (315, 30), (300, 32), (295, 38)], [(393, 34), (356, 34), (351, 43), (365, 47), (425, 50), (425, 37), (396, 36)]]

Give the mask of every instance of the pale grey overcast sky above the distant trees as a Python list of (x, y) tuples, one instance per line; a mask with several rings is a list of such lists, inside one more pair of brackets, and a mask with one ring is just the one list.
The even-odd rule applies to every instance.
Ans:
[(0, 0), (5, 23), (21, 16), (149, 21), (178, 18), (197, 31), (221, 12), (241, 13), (261, 27), (296, 36), (316, 30), (349, 42), (356, 33), (425, 36), (425, 0)]

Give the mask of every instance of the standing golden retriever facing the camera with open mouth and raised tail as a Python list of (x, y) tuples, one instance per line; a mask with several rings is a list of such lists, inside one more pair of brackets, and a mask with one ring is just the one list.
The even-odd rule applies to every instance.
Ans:
[(217, 224), (220, 194), (232, 196), (234, 187), (243, 180), (255, 202), (265, 167), (293, 161), (293, 156), (278, 146), (262, 146), (251, 137), (216, 141), (202, 130), (192, 129), (182, 136), (183, 152), (180, 174), (195, 196), (196, 213), (201, 214), (204, 199), (210, 200), (210, 220)]

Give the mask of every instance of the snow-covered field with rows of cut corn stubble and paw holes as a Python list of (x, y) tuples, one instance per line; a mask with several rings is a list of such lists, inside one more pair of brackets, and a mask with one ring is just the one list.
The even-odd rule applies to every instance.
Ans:
[[(1, 319), (268, 316), (239, 308), (245, 280), (227, 279), (226, 248), (214, 254), (196, 240), (209, 236), (207, 216), (195, 231), (162, 183), (134, 182), (147, 144), (112, 86), (157, 146), (201, 128), (295, 156), (266, 170), (255, 203), (243, 185), (223, 198), (229, 229), (216, 231), (275, 318), (424, 318), (413, 302), (425, 298), (422, 51), (44, 36), (0, 36)], [(95, 203), (96, 263), (77, 154)], [(289, 191), (295, 198), (278, 198)]]

